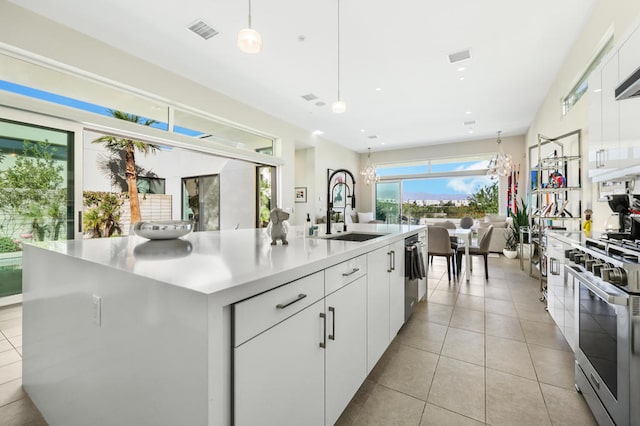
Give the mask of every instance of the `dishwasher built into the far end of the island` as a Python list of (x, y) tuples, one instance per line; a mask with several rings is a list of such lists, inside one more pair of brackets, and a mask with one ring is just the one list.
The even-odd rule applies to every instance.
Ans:
[(404, 240), (404, 321), (427, 292), (424, 232)]

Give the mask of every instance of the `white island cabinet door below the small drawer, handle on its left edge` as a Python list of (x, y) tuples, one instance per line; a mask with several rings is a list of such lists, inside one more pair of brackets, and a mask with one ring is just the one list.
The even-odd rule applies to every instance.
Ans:
[(366, 277), (357, 279), (325, 299), (327, 425), (335, 424), (367, 377), (366, 303)]

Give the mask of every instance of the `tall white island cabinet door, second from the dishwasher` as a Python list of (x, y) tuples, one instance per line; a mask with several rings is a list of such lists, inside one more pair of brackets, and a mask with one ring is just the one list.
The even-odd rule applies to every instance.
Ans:
[(367, 254), (367, 373), (389, 346), (390, 270), (388, 247)]

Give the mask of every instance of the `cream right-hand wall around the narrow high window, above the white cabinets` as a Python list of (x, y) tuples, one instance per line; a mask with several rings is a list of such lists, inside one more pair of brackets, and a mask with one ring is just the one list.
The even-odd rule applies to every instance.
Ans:
[[(589, 143), (589, 92), (562, 117), (562, 98), (566, 96), (575, 81), (584, 72), (601, 39), (610, 27), (614, 30), (614, 43), (638, 22), (640, 1), (638, 0), (598, 0), (591, 17), (576, 39), (569, 55), (561, 65), (558, 75), (540, 106), (526, 135), (527, 146), (537, 144), (538, 133), (555, 137), (576, 129), (582, 129), (582, 154), (588, 153)], [(615, 47), (614, 47), (615, 49)], [(542, 64), (541, 66), (545, 66)], [(531, 90), (535, 90), (531, 88)], [(583, 165), (586, 160), (583, 161)], [(583, 172), (582, 209), (593, 210), (593, 230), (604, 230), (604, 221), (611, 210), (606, 202), (597, 201), (597, 185), (592, 185)]]

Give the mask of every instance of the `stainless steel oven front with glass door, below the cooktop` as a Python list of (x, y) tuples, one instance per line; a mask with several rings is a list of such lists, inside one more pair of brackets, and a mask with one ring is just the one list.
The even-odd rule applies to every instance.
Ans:
[(640, 295), (566, 268), (576, 298), (576, 387), (601, 425), (640, 425)]

